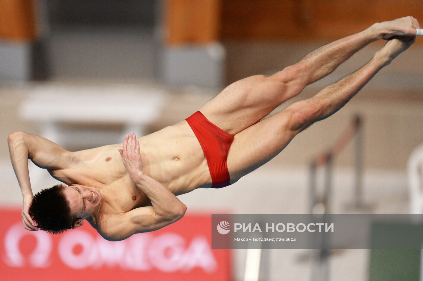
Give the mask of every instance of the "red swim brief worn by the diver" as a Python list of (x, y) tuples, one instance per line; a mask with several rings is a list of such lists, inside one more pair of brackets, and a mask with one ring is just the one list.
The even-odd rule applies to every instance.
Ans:
[(213, 182), (211, 187), (222, 188), (230, 185), (226, 158), (234, 135), (228, 134), (211, 123), (200, 111), (185, 120), (190, 125), (206, 156)]

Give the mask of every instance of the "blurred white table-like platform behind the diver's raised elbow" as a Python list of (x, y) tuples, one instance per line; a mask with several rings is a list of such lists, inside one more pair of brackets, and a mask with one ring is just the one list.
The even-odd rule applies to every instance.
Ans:
[[(19, 115), (24, 120), (39, 123), (41, 136), (60, 145), (65, 141), (90, 145), (90, 139), (101, 137), (84, 138), (84, 132), (66, 134), (62, 122), (123, 123), (124, 132), (111, 140), (118, 143), (129, 132), (144, 135), (145, 126), (159, 116), (166, 95), (164, 90), (135, 84), (40, 85), (30, 91), (19, 108)], [(104, 133), (110, 132), (104, 130)]]

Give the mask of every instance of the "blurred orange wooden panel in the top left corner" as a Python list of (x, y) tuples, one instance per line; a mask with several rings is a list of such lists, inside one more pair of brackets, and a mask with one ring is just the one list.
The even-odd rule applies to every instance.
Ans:
[(0, 0), (0, 38), (31, 40), (35, 37), (33, 0)]

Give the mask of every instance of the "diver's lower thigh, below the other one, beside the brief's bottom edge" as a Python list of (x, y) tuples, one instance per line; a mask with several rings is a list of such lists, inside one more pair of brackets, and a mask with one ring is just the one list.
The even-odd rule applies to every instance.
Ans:
[(227, 159), (231, 183), (268, 162), (294, 138), (296, 132), (288, 130), (290, 114), (281, 111), (235, 135)]

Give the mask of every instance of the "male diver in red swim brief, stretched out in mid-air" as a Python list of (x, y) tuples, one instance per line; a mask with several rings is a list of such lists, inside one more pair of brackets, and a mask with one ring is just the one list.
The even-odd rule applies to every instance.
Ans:
[[(187, 209), (177, 195), (228, 186), (275, 157), (295, 135), (338, 111), (409, 48), (419, 28), (413, 17), (373, 24), (271, 76), (236, 81), (187, 119), (140, 138), (131, 133), (123, 144), (71, 152), (27, 132), (10, 134), (25, 229), (60, 233), (86, 219), (105, 239), (123, 240), (176, 222)], [(382, 38), (387, 43), (362, 68), (263, 119)], [(33, 196), (28, 159), (64, 184)]]

